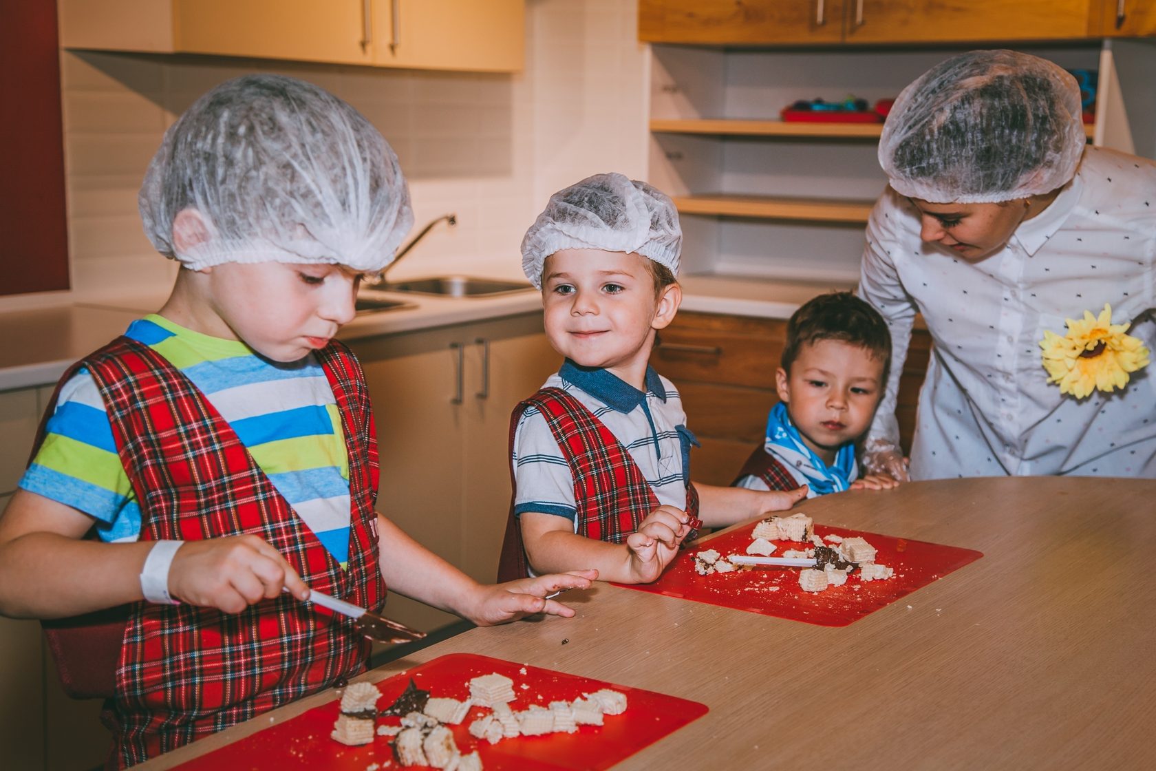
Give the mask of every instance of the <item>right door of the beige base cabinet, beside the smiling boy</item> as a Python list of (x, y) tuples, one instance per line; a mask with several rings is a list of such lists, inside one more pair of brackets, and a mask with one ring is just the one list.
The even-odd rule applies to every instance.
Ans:
[(479, 325), (467, 339), (461, 568), (494, 581), (510, 514), (510, 414), (562, 365), (542, 314)]

